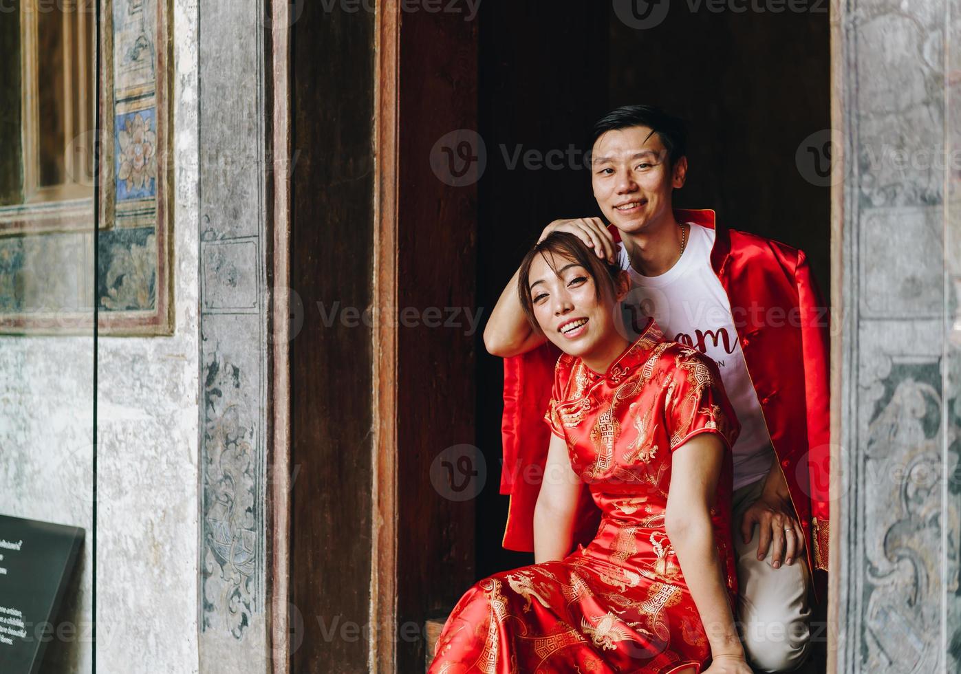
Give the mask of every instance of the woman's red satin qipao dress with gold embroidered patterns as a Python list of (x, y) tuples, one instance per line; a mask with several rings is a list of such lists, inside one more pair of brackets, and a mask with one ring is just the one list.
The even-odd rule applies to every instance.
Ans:
[(604, 374), (562, 354), (545, 419), (602, 511), (594, 540), (559, 562), (476, 583), (444, 625), (432, 674), (702, 671), (710, 648), (664, 512), (672, 452), (699, 433), (723, 439), (711, 508), (731, 607), (731, 454), (739, 425), (717, 366), (651, 322)]

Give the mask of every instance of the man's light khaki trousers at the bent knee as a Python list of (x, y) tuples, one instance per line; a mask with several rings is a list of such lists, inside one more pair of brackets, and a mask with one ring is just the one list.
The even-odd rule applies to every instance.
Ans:
[(748, 662), (755, 671), (790, 672), (806, 660), (810, 645), (811, 572), (805, 555), (791, 566), (771, 566), (772, 548), (757, 559), (760, 538), (754, 525), (751, 542), (742, 542), (744, 511), (761, 495), (764, 478), (735, 490), (731, 501), (734, 556), (737, 563), (738, 614)]

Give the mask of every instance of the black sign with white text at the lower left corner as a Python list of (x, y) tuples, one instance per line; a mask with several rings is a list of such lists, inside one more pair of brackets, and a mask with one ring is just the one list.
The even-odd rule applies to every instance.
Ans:
[(0, 515), (0, 672), (35, 674), (84, 530)]

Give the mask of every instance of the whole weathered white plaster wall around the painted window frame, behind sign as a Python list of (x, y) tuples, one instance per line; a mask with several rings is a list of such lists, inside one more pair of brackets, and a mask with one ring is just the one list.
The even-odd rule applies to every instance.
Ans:
[[(176, 329), (97, 347), (98, 672), (198, 668), (198, 12), (172, 5)], [(50, 646), (64, 674), (92, 671), (93, 373), (92, 331), (0, 337), (0, 513), (86, 529), (79, 634)]]

